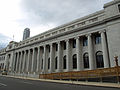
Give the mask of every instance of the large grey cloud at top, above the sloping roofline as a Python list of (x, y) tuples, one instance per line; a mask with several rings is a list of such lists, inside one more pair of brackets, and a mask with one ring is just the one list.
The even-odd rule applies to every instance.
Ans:
[(102, 9), (105, 0), (22, 0), (24, 23), (60, 25)]

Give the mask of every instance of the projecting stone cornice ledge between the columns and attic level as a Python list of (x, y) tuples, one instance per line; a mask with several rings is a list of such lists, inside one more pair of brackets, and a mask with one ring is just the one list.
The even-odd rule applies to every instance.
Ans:
[(57, 35), (54, 35), (54, 36), (51, 36), (51, 37), (48, 37), (48, 38), (44, 38), (42, 40), (38, 40), (38, 41), (33, 42), (33, 43), (29, 43), (27, 45), (24, 45), (24, 46), (21, 46), (21, 47), (17, 47), (17, 48), (8, 50), (8, 51), (24, 48), (24, 47), (27, 47), (27, 46), (33, 46), (34, 44), (39, 44), (41, 42), (48, 41), (48, 40), (51, 40), (51, 39), (54, 39), (54, 38), (58, 38), (58, 37), (61, 37), (61, 36), (67, 35), (67, 34), (71, 34), (71, 33), (74, 33), (74, 32), (82, 31), (84, 29), (92, 28), (92, 27), (95, 27), (95, 26), (98, 26), (98, 25), (101, 25), (101, 24), (104, 24), (104, 23), (107, 23), (107, 22), (110, 22), (112, 20), (116, 20), (116, 19), (119, 19), (119, 18), (120, 18), (120, 15), (116, 15), (116, 16), (113, 16), (113, 17), (110, 17), (110, 18), (106, 18), (104, 20), (101, 20), (101, 21), (98, 21), (98, 22), (95, 22), (95, 23), (83, 26), (83, 27), (78, 27), (78, 28), (75, 28), (73, 30), (66, 31), (64, 33), (60, 33), (60, 34), (57, 34)]

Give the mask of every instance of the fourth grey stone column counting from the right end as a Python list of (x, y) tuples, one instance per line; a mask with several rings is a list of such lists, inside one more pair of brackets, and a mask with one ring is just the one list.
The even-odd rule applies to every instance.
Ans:
[(71, 61), (71, 55), (70, 55), (70, 40), (66, 40), (66, 59), (67, 59), (67, 71), (72, 70), (72, 61)]

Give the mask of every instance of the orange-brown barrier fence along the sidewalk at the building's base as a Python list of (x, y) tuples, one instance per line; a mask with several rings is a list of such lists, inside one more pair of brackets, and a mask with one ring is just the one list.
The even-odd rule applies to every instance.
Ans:
[(117, 82), (120, 82), (120, 66), (112, 68), (103, 68), (96, 70), (72, 71), (61, 73), (40, 74), (40, 79), (90, 79), (99, 78), (102, 81), (104, 77), (116, 77)]

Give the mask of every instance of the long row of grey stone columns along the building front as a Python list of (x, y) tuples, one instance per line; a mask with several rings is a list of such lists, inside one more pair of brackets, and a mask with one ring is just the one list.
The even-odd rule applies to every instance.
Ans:
[[(109, 67), (109, 55), (107, 47), (107, 39), (104, 31), (101, 34), (101, 45), (104, 58), (104, 68)], [(88, 53), (89, 53), (89, 69), (95, 69), (94, 60), (94, 47), (92, 34), (86, 35), (88, 39)], [(76, 40), (76, 55), (77, 55), (77, 71), (84, 70), (83, 67), (83, 57), (82, 57), (82, 46), (80, 37), (75, 37)], [(52, 73), (52, 72), (62, 72), (63, 70), (63, 41), (58, 41), (56, 43), (50, 43), (49, 45), (35, 46), (26, 50), (16, 51), (15, 57), (12, 61), (12, 71), (17, 73)], [(71, 58), (71, 41), (70, 39), (64, 40), (66, 43), (66, 70), (72, 71), (72, 58)], [(56, 50), (57, 48), (57, 50)], [(57, 57), (57, 70), (55, 69), (55, 57)], [(48, 64), (48, 58), (50, 58), (50, 64)], [(50, 65), (48, 69), (48, 65)]]

